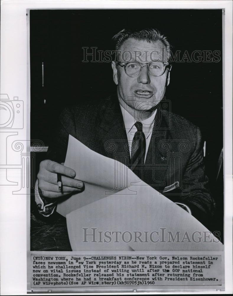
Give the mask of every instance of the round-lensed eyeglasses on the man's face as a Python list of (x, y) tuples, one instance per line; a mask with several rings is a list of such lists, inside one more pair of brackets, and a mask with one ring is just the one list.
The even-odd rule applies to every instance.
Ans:
[(127, 62), (127, 63), (121, 63), (121, 62), (116, 62), (117, 65), (124, 67), (125, 73), (129, 77), (135, 77), (139, 75), (141, 72), (141, 69), (143, 67), (147, 67), (149, 70), (149, 73), (152, 76), (161, 76), (166, 67), (169, 65), (169, 62), (162, 62), (162, 61), (157, 61), (157, 62), (149, 62), (147, 64), (141, 64), (139, 62)]

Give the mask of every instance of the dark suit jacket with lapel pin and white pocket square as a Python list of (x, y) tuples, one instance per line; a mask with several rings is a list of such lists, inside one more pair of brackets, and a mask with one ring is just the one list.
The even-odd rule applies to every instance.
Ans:
[[(161, 106), (162, 102), (157, 106), (145, 165), (138, 167), (137, 174), (170, 200), (188, 205), (192, 215), (208, 227), (215, 203), (208, 191), (200, 130)], [(69, 134), (104, 156), (121, 155), (118, 160), (128, 165), (128, 140), (116, 96), (66, 108), (53, 131), (48, 159), (64, 162)], [(177, 181), (176, 189), (163, 192)]]

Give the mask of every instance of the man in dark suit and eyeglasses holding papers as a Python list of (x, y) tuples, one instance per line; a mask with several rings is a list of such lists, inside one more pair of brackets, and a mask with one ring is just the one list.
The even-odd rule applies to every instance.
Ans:
[[(112, 62), (117, 96), (64, 110), (48, 160), (40, 163), (39, 212), (49, 216), (58, 198), (85, 190), (82, 180), (75, 179), (75, 171), (62, 164), (71, 134), (111, 158), (114, 151), (106, 143), (114, 142), (118, 153), (128, 155), (128, 167), (143, 181), (208, 226), (215, 204), (208, 191), (200, 130), (165, 110), (171, 71), (167, 38), (155, 29), (122, 30), (113, 41), (118, 52)], [(57, 173), (62, 175), (62, 191)]]

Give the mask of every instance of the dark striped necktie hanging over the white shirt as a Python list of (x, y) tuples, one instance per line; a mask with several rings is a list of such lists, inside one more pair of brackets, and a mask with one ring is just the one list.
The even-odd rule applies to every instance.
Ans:
[(145, 153), (146, 153), (146, 138), (142, 131), (142, 123), (137, 121), (135, 123), (137, 128), (133, 137), (132, 149), (131, 149), (131, 170), (134, 170), (136, 165), (144, 165)]

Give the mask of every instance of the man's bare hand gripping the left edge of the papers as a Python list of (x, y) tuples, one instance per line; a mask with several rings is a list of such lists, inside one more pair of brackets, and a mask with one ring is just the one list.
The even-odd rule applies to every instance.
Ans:
[[(62, 189), (58, 190), (57, 173), (60, 173)], [(70, 194), (71, 192), (83, 191), (84, 184), (82, 181), (74, 179), (76, 173), (71, 168), (56, 163), (52, 160), (43, 160), (40, 163), (38, 172), (38, 189), (42, 191), (44, 197), (57, 198)]]

